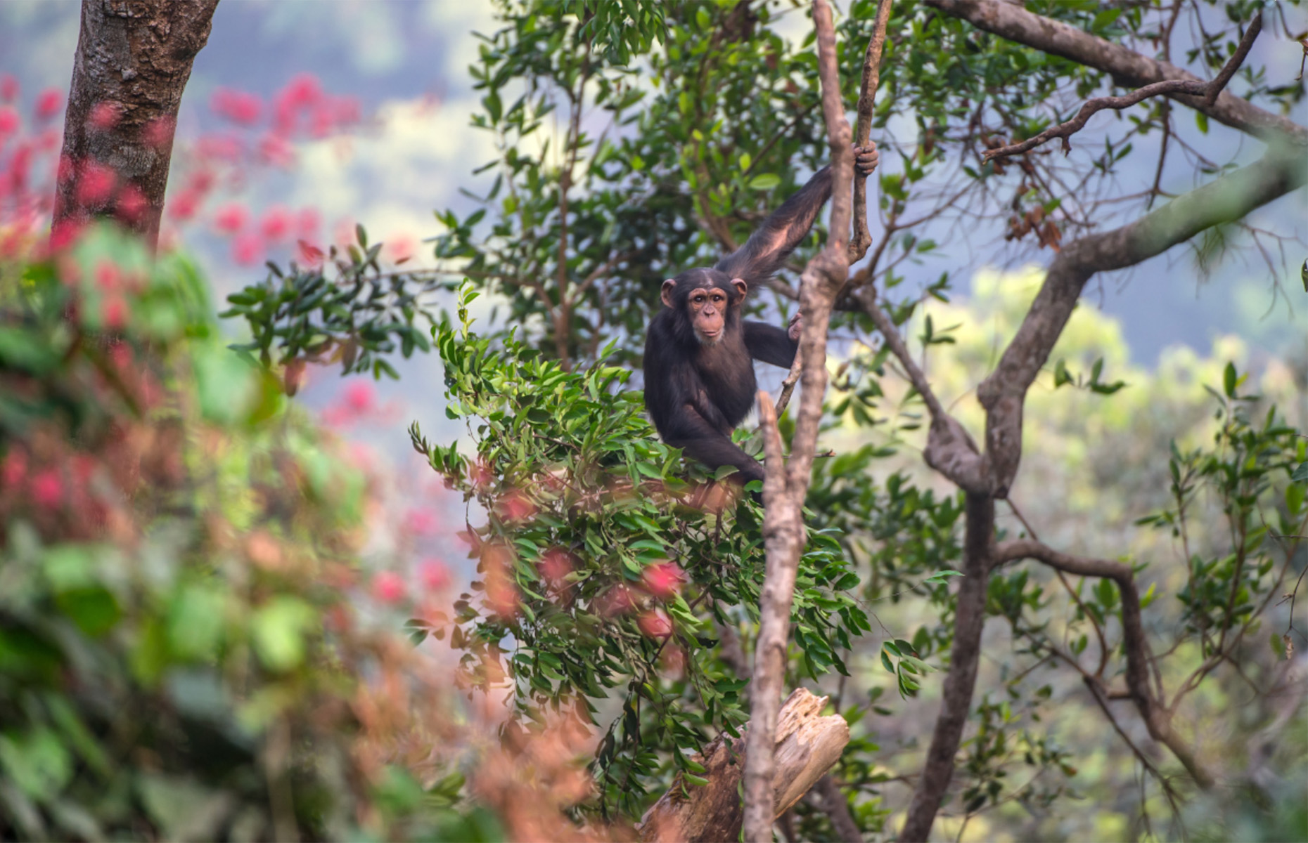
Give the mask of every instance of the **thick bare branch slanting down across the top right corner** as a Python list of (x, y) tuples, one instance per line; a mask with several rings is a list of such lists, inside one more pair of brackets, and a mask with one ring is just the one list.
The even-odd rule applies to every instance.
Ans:
[[(988, 33), (1007, 38), (1050, 55), (1062, 56), (1109, 73), (1120, 85), (1143, 88), (1164, 80), (1202, 81), (1168, 61), (1158, 61), (1134, 50), (1114, 44), (1061, 21), (1027, 12), (1003, 0), (923, 0), (946, 14), (963, 18)], [(1308, 145), (1308, 128), (1260, 108), (1252, 102), (1222, 91), (1213, 103), (1186, 93), (1167, 94), (1202, 111), (1218, 123), (1264, 140)]]

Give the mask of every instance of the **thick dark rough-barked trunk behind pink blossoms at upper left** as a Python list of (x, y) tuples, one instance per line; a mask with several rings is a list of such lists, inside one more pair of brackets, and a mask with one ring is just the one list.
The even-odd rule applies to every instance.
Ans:
[(115, 216), (158, 243), (173, 132), (218, 0), (84, 0), (54, 237)]

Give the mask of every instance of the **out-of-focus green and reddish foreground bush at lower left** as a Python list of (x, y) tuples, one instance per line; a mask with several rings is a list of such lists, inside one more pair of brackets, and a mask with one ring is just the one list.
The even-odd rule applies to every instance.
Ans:
[(4, 836), (471, 836), (391, 766), (450, 720), (366, 620), (365, 473), (195, 268), (105, 229), (0, 291)]

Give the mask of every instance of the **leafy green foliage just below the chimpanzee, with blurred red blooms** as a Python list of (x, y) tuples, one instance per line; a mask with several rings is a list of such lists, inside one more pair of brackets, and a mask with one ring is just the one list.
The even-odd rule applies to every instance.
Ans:
[[(459, 327), (433, 333), (446, 412), (468, 421), (476, 454), (429, 444), (417, 425), (412, 435), (485, 512), (463, 533), (481, 593), (415, 626), (468, 651), (468, 686), (489, 691), (506, 670), (515, 724), (566, 706), (599, 725), (600, 804), (637, 816), (662, 791), (661, 766), (702, 784), (691, 755), (748, 719), (746, 682), (718, 657), (715, 629), (734, 638), (757, 621), (763, 512), (748, 495), (713, 506), (723, 489), (684, 477), (640, 392), (623, 388), (630, 370), (569, 372), (513, 336), (492, 346), (470, 332), (475, 297), (460, 297)], [(857, 584), (837, 540), (812, 531), (793, 612), (797, 678), (849, 673), (841, 652), (870, 629)]]

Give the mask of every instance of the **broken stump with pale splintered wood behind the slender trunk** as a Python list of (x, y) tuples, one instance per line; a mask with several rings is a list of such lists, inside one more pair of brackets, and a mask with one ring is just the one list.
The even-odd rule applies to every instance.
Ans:
[[(777, 718), (776, 775), (772, 779), (773, 818), (787, 812), (840, 759), (849, 744), (849, 724), (840, 715), (821, 716), (825, 697), (798, 687)], [(678, 774), (672, 787), (641, 819), (646, 843), (688, 840), (735, 840), (740, 836), (744, 809), (740, 804), (740, 774), (744, 769), (744, 737), (719, 736), (696, 761), (704, 765), (708, 784), (696, 787)]]

